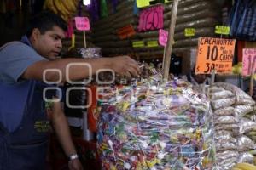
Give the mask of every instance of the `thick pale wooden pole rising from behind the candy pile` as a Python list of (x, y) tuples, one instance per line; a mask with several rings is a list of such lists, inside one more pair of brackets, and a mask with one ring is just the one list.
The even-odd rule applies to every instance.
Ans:
[(171, 54), (172, 54), (172, 45), (174, 40), (174, 31), (175, 31), (175, 25), (177, 20), (177, 5), (178, 0), (173, 0), (172, 3), (172, 17), (171, 17), (171, 23), (169, 27), (169, 36), (168, 36), (168, 42), (166, 46), (166, 55), (163, 60), (164, 63), (164, 81), (168, 80), (169, 76), (169, 69), (170, 69), (170, 63), (171, 63)]

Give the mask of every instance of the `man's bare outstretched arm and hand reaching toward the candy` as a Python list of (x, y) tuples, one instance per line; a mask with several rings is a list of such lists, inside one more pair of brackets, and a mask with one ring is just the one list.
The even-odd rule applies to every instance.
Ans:
[[(22, 74), (22, 78), (43, 80), (44, 71), (57, 69), (58, 71), (61, 71), (61, 82), (67, 82), (67, 65), (71, 63), (90, 65), (91, 68), (90, 72), (89, 67), (86, 65), (71, 66), (68, 70), (69, 79), (71, 81), (90, 77), (96, 74), (96, 71), (100, 69), (111, 69), (114, 72), (127, 77), (139, 76), (139, 66), (137, 65), (137, 62), (128, 56), (121, 56), (101, 59), (56, 59), (54, 61), (38, 61), (33, 65), (28, 66), (26, 71)], [(46, 80), (49, 82), (59, 80), (59, 73), (57, 71), (48, 71), (46, 74)]]

